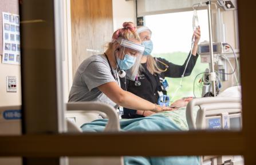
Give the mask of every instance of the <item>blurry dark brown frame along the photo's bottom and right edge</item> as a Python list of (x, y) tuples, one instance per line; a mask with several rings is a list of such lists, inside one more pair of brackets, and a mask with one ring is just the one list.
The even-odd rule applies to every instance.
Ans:
[[(251, 1), (253, 4), (253, 1)], [(256, 90), (253, 76), (254, 5), (238, 1), (239, 44), (243, 130), (241, 132), (120, 132), (98, 134), (41, 134), (1, 136), (0, 156), (167, 156), (167, 155), (244, 155), (245, 164), (256, 164)], [(49, 62), (50, 63), (50, 62)], [(25, 66), (21, 66), (25, 67)], [(23, 79), (23, 83), (29, 83)], [(55, 82), (55, 81), (54, 81)], [(46, 88), (48, 90), (48, 88)], [(23, 93), (23, 96), (26, 96)], [(23, 100), (29, 104), (31, 100)], [(37, 105), (35, 105), (37, 106)], [(131, 142), (129, 144), (124, 142)], [(159, 144), (157, 142), (162, 142)], [(157, 143), (157, 144), (156, 144)], [(116, 144), (121, 144), (118, 147)], [(40, 148), (40, 149), (39, 149)]]

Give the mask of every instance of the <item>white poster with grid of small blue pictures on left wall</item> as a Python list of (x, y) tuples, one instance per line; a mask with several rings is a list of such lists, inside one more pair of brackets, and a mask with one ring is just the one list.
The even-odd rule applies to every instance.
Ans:
[(19, 15), (3, 15), (3, 58), (2, 63), (21, 64), (21, 42), (19, 34)]

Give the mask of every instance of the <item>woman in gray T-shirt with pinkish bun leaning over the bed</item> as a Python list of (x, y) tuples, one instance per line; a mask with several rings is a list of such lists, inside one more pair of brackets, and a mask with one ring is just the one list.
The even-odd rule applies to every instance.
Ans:
[(104, 54), (93, 55), (81, 63), (74, 75), (69, 102), (100, 101), (113, 107), (126, 107), (141, 111), (168, 111), (125, 91), (119, 77), (135, 80), (144, 51), (140, 37), (132, 22), (124, 22), (116, 30)]

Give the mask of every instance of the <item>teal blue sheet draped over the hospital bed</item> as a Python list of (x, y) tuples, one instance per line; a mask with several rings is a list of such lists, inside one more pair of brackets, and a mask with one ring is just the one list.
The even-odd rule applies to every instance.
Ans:
[[(84, 132), (102, 132), (108, 119), (94, 120), (81, 126)], [(121, 119), (121, 131), (182, 131), (172, 120), (156, 114), (145, 118)], [(125, 165), (199, 165), (199, 156), (142, 157), (124, 156)]]

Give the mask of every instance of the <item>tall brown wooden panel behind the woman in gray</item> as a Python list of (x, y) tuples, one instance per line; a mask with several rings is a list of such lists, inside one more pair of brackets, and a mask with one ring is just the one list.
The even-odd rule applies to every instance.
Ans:
[(112, 0), (71, 0), (72, 72), (104, 51), (113, 34)]

